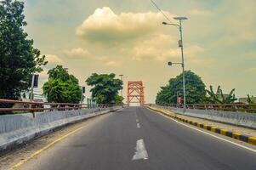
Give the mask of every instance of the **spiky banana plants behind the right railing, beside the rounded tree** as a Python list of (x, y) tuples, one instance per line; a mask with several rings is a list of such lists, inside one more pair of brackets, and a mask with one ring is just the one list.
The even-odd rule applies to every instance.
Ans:
[(220, 86), (217, 88), (216, 93), (213, 92), (213, 86), (210, 86), (210, 90), (207, 90), (207, 92), (209, 95), (208, 102), (212, 104), (233, 104), (236, 101), (235, 88), (227, 95), (223, 94)]

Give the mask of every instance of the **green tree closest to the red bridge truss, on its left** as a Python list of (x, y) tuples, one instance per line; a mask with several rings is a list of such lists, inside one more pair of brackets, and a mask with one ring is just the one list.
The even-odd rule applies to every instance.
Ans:
[(96, 74), (86, 80), (88, 86), (93, 88), (92, 98), (96, 99), (98, 104), (121, 104), (122, 96), (118, 95), (118, 90), (122, 89), (122, 81), (115, 79), (116, 75), (111, 74)]

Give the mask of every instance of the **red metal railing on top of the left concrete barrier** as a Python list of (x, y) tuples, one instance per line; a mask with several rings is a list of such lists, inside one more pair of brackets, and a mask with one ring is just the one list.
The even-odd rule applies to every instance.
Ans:
[(0, 104), (13, 104), (12, 107), (1, 107), (1, 112), (9, 111), (71, 111), (80, 109), (94, 109), (94, 108), (107, 108), (112, 105), (86, 105), (86, 104), (69, 104), (69, 103), (43, 103), (43, 102), (30, 102), (10, 99), (0, 99)]

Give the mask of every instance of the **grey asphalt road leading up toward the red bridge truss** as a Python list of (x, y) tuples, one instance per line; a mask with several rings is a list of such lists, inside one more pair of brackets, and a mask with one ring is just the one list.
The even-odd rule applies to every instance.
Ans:
[(143, 107), (105, 116), (21, 169), (256, 169), (256, 153), (185, 127)]

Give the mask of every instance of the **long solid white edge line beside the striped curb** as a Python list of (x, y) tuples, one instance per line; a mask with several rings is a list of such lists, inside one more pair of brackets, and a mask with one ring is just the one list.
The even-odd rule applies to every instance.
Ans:
[[(161, 114), (161, 115), (162, 115), (162, 114)], [(162, 116), (165, 116), (165, 115), (162, 115)], [(199, 131), (199, 132), (201, 132), (201, 133), (208, 134), (209, 136), (212, 136), (213, 138), (223, 140), (223, 141), (228, 142), (228, 143), (230, 143), (230, 144), (235, 144), (236, 146), (239, 146), (239, 147), (241, 147), (241, 148), (243, 148), (243, 149), (246, 149), (246, 150), (251, 150), (251, 151), (253, 151), (254, 153), (256, 153), (256, 150), (253, 150), (252, 148), (249, 148), (249, 147), (244, 146), (244, 145), (242, 145), (242, 144), (236, 144), (235, 142), (232, 142), (232, 141), (230, 141), (230, 140), (228, 140), (228, 139), (223, 139), (223, 138), (220, 138), (219, 136), (213, 135), (213, 134), (211, 134), (211, 133), (204, 132), (204, 131), (202, 131), (202, 130), (196, 128), (196, 127), (191, 127), (191, 126), (189, 126), (189, 125), (187, 125), (187, 124), (185, 124), (185, 123), (183, 123), (183, 122), (179, 122), (179, 121), (175, 120), (175, 119), (172, 118), (172, 117), (169, 117), (169, 116), (165, 116), (165, 117), (168, 117), (169, 119), (172, 119), (174, 122), (177, 122), (177, 123), (179, 123), (179, 124), (181, 124), (181, 125), (183, 125), (183, 126), (185, 126), (185, 127), (190, 127), (190, 128), (192, 128), (192, 129), (194, 129), (194, 130), (197, 130), (197, 131)]]

